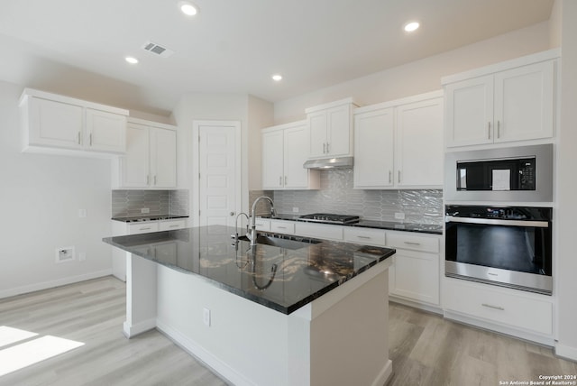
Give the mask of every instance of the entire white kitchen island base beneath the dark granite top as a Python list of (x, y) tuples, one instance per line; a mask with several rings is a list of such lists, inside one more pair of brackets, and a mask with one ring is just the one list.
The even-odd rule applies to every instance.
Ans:
[(285, 315), (129, 254), (124, 334), (157, 327), (235, 385), (383, 385), (390, 259)]

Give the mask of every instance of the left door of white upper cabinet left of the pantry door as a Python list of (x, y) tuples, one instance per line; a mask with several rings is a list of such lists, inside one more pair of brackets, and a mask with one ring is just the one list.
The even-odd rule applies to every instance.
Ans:
[(126, 153), (121, 159), (125, 188), (146, 188), (150, 176), (149, 128), (142, 124), (128, 124)]

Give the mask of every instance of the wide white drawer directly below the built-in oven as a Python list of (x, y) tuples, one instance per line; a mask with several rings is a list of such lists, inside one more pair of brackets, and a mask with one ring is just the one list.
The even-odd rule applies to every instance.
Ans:
[(466, 280), (444, 278), (445, 317), (545, 345), (553, 342), (551, 297)]

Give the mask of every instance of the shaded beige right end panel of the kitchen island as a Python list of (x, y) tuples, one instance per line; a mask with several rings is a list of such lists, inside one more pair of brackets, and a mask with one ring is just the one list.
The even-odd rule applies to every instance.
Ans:
[(384, 271), (312, 320), (311, 385), (389, 380), (388, 289), (389, 272)]

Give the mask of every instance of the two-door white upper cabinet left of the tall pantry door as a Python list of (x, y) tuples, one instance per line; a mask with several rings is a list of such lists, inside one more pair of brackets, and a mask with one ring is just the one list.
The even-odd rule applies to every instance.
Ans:
[(176, 188), (176, 127), (131, 118), (119, 179), (119, 188)]

